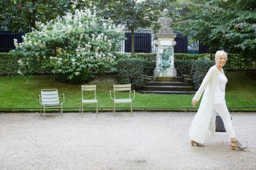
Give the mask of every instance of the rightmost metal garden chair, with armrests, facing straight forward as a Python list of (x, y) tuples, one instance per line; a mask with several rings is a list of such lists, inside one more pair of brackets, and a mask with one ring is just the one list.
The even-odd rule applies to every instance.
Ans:
[[(129, 98), (117, 98), (117, 92), (124, 92), (127, 91), (129, 92)], [(133, 92), (133, 98), (131, 98), (131, 92)], [(109, 91), (110, 93), (110, 98), (114, 102), (114, 108), (113, 108), (113, 114), (115, 116), (115, 104), (120, 104), (120, 103), (131, 103), (131, 116), (132, 116), (132, 100), (135, 98), (135, 91), (131, 91), (131, 84), (113, 84), (113, 92)], [(114, 98), (112, 98), (112, 93), (114, 93)], [(128, 95), (127, 95), (128, 96)]]

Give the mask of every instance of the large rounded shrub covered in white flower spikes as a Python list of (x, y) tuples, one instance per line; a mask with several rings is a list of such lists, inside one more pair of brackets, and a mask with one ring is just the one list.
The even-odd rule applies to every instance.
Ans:
[(62, 81), (88, 81), (92, 72), (104, 71), (114, 62), (120, 41), (125, 39), (123, 30), (90, 9), (37, 23), (37, 29), (23, 36), (22, 43), (15, 39), (15, 52), (23, 54), (18, 73), (44, 69), (59, 74)]

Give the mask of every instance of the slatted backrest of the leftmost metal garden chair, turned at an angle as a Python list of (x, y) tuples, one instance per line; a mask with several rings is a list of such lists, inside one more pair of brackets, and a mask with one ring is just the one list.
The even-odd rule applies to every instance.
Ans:
[(60, 104), (59, 93), (57, 89), (41, 89), (42, 104), (55, 105)]

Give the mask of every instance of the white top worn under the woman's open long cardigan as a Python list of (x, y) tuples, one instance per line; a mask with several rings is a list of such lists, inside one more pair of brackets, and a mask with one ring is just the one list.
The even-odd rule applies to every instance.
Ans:
[(216, 77), (216, 89), (214, 94), (214, 104), (226, 104), (225, 101), (225, 88), (228, 79), (226, 78), (225, 74), (219, 72), (218, 76)]

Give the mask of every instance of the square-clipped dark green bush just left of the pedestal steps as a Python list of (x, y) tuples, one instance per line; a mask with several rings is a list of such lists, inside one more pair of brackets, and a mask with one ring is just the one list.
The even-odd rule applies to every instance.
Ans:
[(132, 84), (140, 87), (143, 84), (143, 59), (126, 58), (119, 59), (117, 64), (118, 76), (122, 84)]

